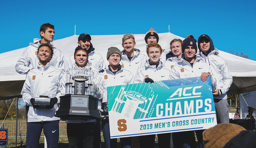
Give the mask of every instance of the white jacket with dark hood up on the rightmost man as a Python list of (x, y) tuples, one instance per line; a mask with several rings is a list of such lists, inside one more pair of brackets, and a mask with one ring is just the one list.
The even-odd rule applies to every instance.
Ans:
[[(219, 53), (218, 49), (214, 48), (212, 39), (205, 35), (210, 40), (210, 48), (205, 54), (200, 49), (200, 44), (198, 44), (198, 48), (200, 51), (200, 56), (202, 57), (203, 61), (205, 61), (211, 68), (214, 78), (216, 78), (216, 89), (219, 90), (219, 96), (214, 96), (214, 99), (227, 99), (227, 91), (229, 90), (233, 78), (230, 74), (228, 66), (225, 60), (222, 57), (216, 56), (216, 53)], [(198, 41), (203, 35), (199, 36)]]

